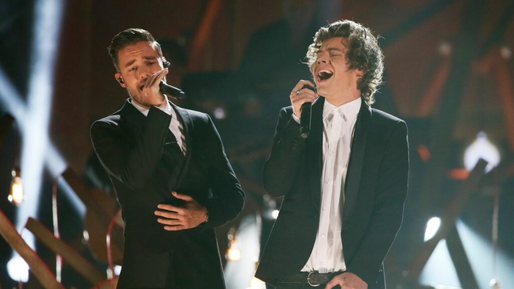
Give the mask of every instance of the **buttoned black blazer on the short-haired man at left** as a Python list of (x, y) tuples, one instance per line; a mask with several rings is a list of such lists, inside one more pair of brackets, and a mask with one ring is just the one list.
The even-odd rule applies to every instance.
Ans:
[[(183, 125), (187, 152), (177, 166), (166, 146), (170, 115), (151, 107), (144, 116), (131, 103), (91, 127), (91, 139), (113, 182), (125, 223), (118, 288), (225, 288), (214, 227), (234, 219), (244, 192), (206, 114), (171, 104)], [(176, 117), (173, 111), (173, 117)], [(171, 191), (192, 196), (209, 222), (166, 231), (158, 204), (179, 205)]]

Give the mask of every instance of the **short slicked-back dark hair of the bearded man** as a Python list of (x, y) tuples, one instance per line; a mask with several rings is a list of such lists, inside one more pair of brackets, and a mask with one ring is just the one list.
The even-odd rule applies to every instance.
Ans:
[(134, 45), (141, 41), (151, 42), (153, 45), (155, 45), (157, 53), (159, 53), (159, 57), (162, 57), (162, 50), (160, 45), (155, 41), (153, 35), (150, 32), (141, 28), (129, 28), (116, 34), (116, 36), (113, 37), (113, 40), (111, 41), (111, 45), (107, 47), (109, 50), (109, 55), (113, 60), (114, 67), (116, 67), (116, 71), (120, 72), (118, 52), (127, 46)]

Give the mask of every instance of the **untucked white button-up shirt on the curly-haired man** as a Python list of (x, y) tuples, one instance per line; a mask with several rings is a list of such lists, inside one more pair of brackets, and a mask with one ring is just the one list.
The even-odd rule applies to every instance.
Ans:
[[(313, 251), (302, 268), (304, 272), (329, 273), (346, 270), (340, 211), (344, 203), (344, 181), (361, 101), (358, 98), (336, 107), (325, 100), (320, 221)], [(340, 202), (341, 197), (343, 200)]]

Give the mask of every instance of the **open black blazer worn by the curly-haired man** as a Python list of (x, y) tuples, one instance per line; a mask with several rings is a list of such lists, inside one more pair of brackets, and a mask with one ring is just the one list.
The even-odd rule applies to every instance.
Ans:
[[(300, 272), (314, 247), (321, 206), (324, 101), (319, 97), (313, 104), (306, 140), (291, 117), (292, 107), (280, 111), (264, 166), (266, 190), (284, 195), (255, 274), (271, 284)], [(347, 271), (370, 289), (385, 287), (382, 261), (401, 225), (408, 170), (405, 122), (362, 101), (344, 184), (341, 240)]]

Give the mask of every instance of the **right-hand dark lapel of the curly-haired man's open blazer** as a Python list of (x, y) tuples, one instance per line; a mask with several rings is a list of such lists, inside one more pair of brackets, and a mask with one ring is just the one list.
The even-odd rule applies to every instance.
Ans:
[(366, 150), (366, 138), (371, 118), (371, 108), (362, 100), (362, 104), (355, 124), (354, 138), (351, 146), (350, 164), (346, 173), (344, 184), (344, 206), (342, 211), (343, 223), (350, 218), (353, 211), (355, 200), (359, 191), (360, 176), (364, 152)]

